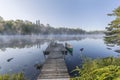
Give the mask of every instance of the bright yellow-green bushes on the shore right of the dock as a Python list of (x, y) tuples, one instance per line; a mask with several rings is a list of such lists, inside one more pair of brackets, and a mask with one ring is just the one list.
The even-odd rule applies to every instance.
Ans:
[(76, 66), (79, 76), (71, 80), (120, 80), (120, 57), (86, 60), (82, 68)]

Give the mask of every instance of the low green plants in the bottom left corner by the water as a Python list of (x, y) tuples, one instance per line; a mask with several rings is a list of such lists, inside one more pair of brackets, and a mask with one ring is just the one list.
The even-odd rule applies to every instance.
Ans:
[(23, 73), (0, 75), (0, 80), (26, 80)]

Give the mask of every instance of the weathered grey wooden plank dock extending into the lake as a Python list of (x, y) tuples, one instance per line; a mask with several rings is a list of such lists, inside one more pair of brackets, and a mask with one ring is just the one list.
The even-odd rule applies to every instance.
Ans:
[(51, 43), (45, 53), (48, 58), (37, 80), (69, 80), (70, 76), (64, 60), (66, 49), (63, 44)]

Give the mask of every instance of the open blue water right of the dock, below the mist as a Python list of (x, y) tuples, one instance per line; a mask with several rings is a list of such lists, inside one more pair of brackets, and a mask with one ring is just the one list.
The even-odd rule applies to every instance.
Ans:
[(71, 71), (75, 69), (76, 66), (81, 67), (84, 57), (95, 59), (118, 56), (118, 53), (114, 52), (117, 47), (110, 47), (111, 50), (107, 49), (108, 46), (104, 44), (103, 38), (85, 38), (80, 41), (67, 41), (67, 43), (73, 46), (73, 55), (68, 54), (65, 58), (71, 76), (76, 76), (74, 73), (71, 73)]

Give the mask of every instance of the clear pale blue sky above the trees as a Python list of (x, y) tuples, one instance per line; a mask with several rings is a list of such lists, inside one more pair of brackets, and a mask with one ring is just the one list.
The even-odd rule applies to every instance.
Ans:
[(5, 20), (40, 20), (53, 27), (104, 30), (114, 19), (108, 13), (120, 0), (0, 0), (0, 16)]

